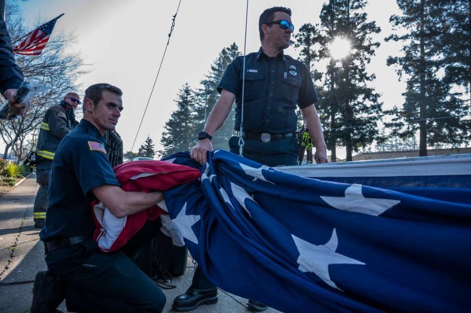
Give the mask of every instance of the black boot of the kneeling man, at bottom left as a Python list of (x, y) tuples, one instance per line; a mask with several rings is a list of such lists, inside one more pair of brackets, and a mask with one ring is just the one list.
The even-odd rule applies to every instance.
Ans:
[(57, 307), (65, 299), (65, 286), (49, 273), (39, 271), (34, 278), (31, 313), (62, 313)]

